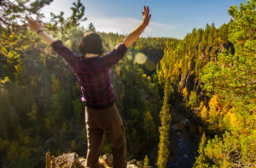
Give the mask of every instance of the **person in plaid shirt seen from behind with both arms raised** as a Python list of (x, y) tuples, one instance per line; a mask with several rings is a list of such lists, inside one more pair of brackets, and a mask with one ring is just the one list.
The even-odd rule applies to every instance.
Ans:
[(54, 49), (70, 65), (81, 84), (82, 98), (85, 105), (85, 123), (88, 139), (86, 166), (98, 166), (103, 135), (105, 134), (112, 143), (113, 167), (126, 167), (126, 141), (125, 130), (119, 115), (119, 110), (114, 103), (115, 95), (110, 82), (110, 69), (119, 59), (122, 59), (133, 42), (148, 26), (151, 14), (148, 7), (144, 6), (143, 22), (125, 37), (110, 53), (102, 56), (102, 39), (93, 32), (84, 34), (80, 43), (80, 52), (77, 55), (63, 46), (60, 40), (55, 40), (42, 29), (42, 23), (26, 16), (28, 26), (38, 33), (45, 42)]

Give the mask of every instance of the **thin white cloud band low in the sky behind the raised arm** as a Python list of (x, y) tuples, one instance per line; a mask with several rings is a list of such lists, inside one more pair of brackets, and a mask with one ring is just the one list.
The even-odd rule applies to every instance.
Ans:
[[(129, 34), (141, 24), (141, 20), (133, 18), (97, 18), (90, 17), (84, 22), (84, 27), (92, 24), (96, 27), (96, 31), (113, 32), (119, 34)], [(166, 36), (166, 33), (175, 29), (174, 25), (162, 24), (150, 21), (148, 27), (143, 32), (142, 36)]]

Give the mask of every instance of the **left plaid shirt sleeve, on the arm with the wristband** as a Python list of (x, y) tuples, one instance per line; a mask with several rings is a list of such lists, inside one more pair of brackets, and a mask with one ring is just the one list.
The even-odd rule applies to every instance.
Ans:
[(72, 70), (75, 69), (76, 60), (79, 59), (79, 56), (77, 54), (73, 53), (72, 51), (70, 51), (70, 49), (65, 47), (61, 40), (56, 40), (55, 42), (52, 42), (50, 46), (56, 53), (59, 53), (67, 61)]

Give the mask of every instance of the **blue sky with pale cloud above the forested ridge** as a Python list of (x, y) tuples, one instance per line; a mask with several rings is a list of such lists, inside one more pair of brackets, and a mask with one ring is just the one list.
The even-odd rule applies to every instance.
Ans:
[[(72, 3), (76, 0), (54, 0), (41, 12), (49, 20), (49, 13), (68, 17), (72, 14)], [(150, 23), (142, 36), (165, 36), (183, 39), (193, 28), (205, 28), (207, 23), (216, 27), (228, 23), (230, 5), (239, 6), (246, 0), (81, 0), (84, 4), (88, 28), (90, 22), (96, 31), (128, 35), (143, 20), (143, 5), (152, 14)]]

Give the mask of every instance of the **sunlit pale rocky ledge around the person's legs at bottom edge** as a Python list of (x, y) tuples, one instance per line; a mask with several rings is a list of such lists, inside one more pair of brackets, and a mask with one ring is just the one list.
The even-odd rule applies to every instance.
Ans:
[[(112, 154), (104, 154), (99, 158), (100, 168), (111, 168), (113, 165)], [(85, 168), (85, 159), (79, 157), (79, 154), (68, 153), (61, 156), (51, 156), (49, 152), (46, 154), (46, 168)], [(151, 166), (143, 166), (142, 161), (131, 160), (127, 162), (127, 168), (152, 168)]]

